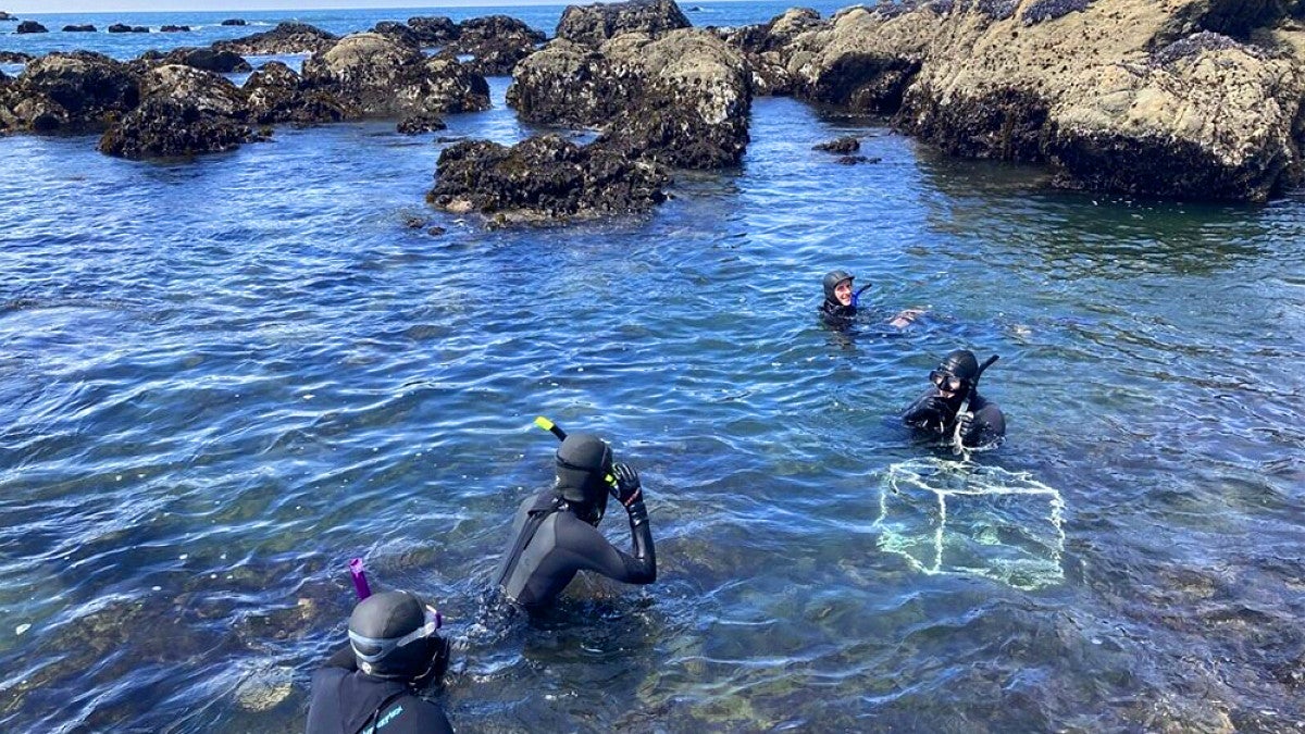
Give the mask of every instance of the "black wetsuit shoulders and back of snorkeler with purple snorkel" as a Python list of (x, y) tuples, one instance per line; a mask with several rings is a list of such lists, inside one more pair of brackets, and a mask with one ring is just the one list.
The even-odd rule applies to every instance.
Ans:
[(308, 734), (452, 734), (444, 710), (401, 680), (358, 669), (343, 648), (313, 673)]

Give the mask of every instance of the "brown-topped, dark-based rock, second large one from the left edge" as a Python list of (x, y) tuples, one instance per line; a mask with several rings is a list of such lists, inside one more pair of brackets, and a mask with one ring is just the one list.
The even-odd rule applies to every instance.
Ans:
[(121, 158), (218, 153), (257, 140), (245, 98), (226, 78), (180, 64), (141, 77), (141, 104), (108, 128), (99, 150)]

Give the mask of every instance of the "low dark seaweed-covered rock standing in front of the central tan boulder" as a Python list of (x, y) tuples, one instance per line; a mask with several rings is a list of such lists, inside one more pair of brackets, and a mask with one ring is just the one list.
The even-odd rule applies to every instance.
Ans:
[(666, 200), (669, 180), (658, 166), (600, 144), (581, 148), (555, 135), (512, 148), (476, 140), (440, 154), (427, 200), (499, 223), (551, 222), (647, 210)]

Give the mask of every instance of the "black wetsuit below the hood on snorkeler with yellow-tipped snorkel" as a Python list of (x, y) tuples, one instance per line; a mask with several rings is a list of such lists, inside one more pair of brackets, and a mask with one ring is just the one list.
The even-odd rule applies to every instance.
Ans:
[(626, 555), (566, 507), (555, 490), (527, 499), (512, 525), (512, 545), (495, 573), (495, 585), (521, 605), (553, 599), (579, 571), (596, 571), (626, 584), (656, 580), (656, 552), (646, 515), (630, 516), (634, 555)]

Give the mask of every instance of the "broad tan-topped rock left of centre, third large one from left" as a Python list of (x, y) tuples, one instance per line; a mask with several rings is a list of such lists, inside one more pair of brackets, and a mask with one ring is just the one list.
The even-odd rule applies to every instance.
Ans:
[(304, 82), (364, 115), (466, 112), (489, 107), (484, 77), (377, 33), (345, 37), (304, 61)]

